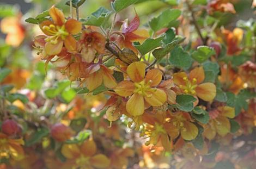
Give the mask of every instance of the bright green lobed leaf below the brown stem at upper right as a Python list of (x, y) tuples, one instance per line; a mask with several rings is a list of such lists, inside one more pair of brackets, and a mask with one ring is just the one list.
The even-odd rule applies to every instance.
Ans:
[(199, 46), (197, 47), (197, 51), (194, 51), (191, 56), (194, 60), (198, 61), (199, 63), (202, 63), (214, 54), (216, 53), (213, 48), (210, 48), (209, 46)]

